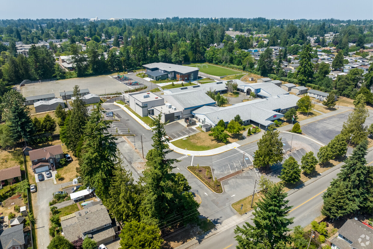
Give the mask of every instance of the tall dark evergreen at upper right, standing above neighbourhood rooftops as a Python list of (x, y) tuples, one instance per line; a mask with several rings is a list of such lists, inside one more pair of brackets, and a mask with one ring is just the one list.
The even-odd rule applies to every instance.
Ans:
[(300, 52), (299, 57), (299, 67), (297, 68), (298, 72), (298, 81), (301, 85), (307, 84), (310, 79), (313, 77), (313, 64), (312, 64), (312, 55), (311, 55), (311, 45), (306, 43), (303, 46), (302, 52)]

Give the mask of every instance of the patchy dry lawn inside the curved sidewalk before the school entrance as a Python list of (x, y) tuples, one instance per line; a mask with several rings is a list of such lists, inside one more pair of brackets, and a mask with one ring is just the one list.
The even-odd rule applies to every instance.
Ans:
[[(211, 149), (215, 149), (215, 148), (225, 145), (225, 143), (218, 142), (213, 137), (210, 137), (209, 136), (210, 133), (211, 131), (208, 131), (208, 132), (202, 131), (190, 137), (172, 141), (171, 143), (181, 149), (186, 148), (187, 150), (196, 150), (196, 151), (211, 150)], [(239, 139), (237, 138), (229, 137), (227, 144), (236, 142), (238, 140)]]

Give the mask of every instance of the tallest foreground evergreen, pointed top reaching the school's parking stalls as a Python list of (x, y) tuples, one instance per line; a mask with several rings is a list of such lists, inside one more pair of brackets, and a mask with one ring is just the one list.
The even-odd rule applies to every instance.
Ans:
[[(198, 221), (198, 203), (189, 190), (191, 187), (184, 175), (173, 173), (176, 159), (166, 158), (171, 152), (168, 139), (164, 138), (161, 115), (153, 120), (153, 149), (146, 159), (144, 177), (141, 178), (143, 201), (141, 219), (148, 224), (165, 224), (178, 220), (182, 224)], [(179, 215), (181, 214), (181, 215)], [(164, 230), (162, 230), (164, 232)]]

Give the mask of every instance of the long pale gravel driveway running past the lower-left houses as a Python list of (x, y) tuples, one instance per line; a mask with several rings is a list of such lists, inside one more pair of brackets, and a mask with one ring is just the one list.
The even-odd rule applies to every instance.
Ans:
[[(51, 179), (51, 178), (50, 178)], [(49, 202), (53, 193), (60, 190), (61, 184), (54, 185), (53, 181), (41, 181), (37, 183), (37, 192), (32, 193), (32, 206), (35, 215), (35, 231), (37, 234), (38, 248), (47, 248), (49, 238)]]

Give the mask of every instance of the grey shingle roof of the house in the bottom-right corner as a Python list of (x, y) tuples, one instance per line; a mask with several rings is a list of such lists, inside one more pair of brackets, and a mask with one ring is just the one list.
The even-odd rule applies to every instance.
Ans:
[[(347, 220), (339, 229), (338, 233), (352, 241), (352, 244), (350, 245), (352, 248), (372, 248), (373, 229), (364, 225), (360, 221), (353, 219)], [(370, 246), (368, 247), (368, 245)]]

